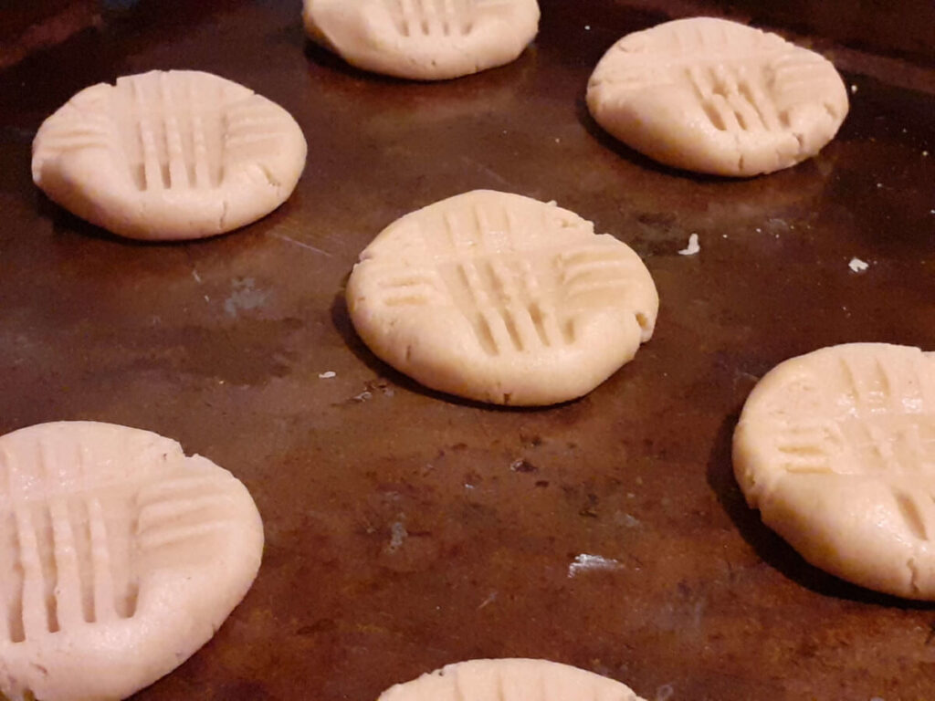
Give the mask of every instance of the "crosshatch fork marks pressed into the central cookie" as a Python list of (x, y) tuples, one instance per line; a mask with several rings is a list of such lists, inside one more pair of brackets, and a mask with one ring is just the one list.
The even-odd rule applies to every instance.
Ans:
[[(441, 215), (441, 236), (415, 239), (434, 251), (434, 265), (404, 271), (386, 265), (378, 288), (387, 307), (453, 305), (491, 356), (573, 344), (575, 318), (607, 295), (626, 298), (637, 282), (616, 247), (570, 242), (544, 257), (520, 250), (530, 233), (510, 207), (472, 205)], [(538, 222), (548, 231), (561, 223)], [(534, 235), (535, 236), (535, 235)]]

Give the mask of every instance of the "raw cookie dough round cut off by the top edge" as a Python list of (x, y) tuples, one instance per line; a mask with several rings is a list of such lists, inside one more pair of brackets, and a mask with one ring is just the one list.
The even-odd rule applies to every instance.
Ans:
[(305, 0), (306, 32), (349, 64), (416, 80), (467, 76), (519, 56), (537, 0)]

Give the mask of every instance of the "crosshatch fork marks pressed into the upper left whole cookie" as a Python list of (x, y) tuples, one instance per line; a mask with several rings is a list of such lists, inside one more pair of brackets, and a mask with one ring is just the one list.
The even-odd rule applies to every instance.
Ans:
[(106, 150), (140, 193), (217, 189), (241, 165), (278, 184), (265, 154), (295, 128), (274, 103), (200, 73), (124, 77), (79, 100), (80, 108), (66, 106), (43, 125), (41, 160)]

